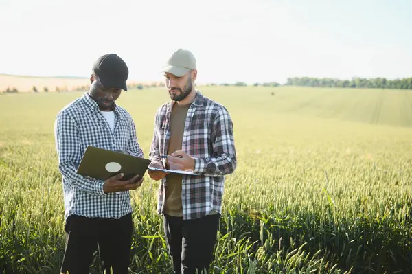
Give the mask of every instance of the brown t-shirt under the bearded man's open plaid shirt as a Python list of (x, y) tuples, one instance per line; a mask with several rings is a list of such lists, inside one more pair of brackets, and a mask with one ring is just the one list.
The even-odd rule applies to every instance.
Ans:
[[(176, 150), (182, 149), (182, 139), (185, 130), (185, 121), (190, 104), (179, 106), (174, 104), (172, 115), (170, 116), (170, 139), (168, 144), (168, 155)], [(166, 160), (166, 168), (169, 163)], [(182, 175), (168, 174), (166, 176), (166, 193), (165, 193), (165, 214), (170, 216), (183, 216), (182, 213)]]

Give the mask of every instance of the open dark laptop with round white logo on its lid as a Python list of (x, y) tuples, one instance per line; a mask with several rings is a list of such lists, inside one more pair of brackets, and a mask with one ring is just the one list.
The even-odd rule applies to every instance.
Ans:
[(149, 159), (88, 146), (76, 173), (101, 180), (124, 173), (121, 180), (126, 181), (137, 174), (143, 177), (149, 164)]

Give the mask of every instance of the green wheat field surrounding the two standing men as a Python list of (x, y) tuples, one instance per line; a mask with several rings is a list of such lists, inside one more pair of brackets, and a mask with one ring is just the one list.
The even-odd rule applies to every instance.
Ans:
[[(233, 117), (214, 273), (410, 273), (412, 91), (200, 87)], [(56, 113), (82, 93), (0, 98), (0, 273), (58, 273)], [(123, 93), (148, 155), (163, 89)], [(158, 183), (133, 192), (130, 273), (170, 273)], [(93, 269), (98, 270), (98, 258)], [(398, 271), (398, 272), (397, 272)]]

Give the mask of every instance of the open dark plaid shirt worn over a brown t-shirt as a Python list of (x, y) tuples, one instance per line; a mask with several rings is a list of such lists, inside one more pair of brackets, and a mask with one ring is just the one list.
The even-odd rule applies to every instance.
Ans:
[[(157, 110), (149, 154), (151, 161), (161, 161), (163, 165), (165, 159), (159, 154), (166, 155), (168, 149), (173, 103), (165, 103)], [(201, 175), (183, 175), (183, 218), (200, 218), (212, 210), (221, 213), (225, 174), (236, 168), (233, 124), (225, 106), (196, 91), (196, 98), (187, 111), (182, 150), (194, 158), (194, 172)], [(159, 187), (159, 214), (163, 214), (165, 187), (167, 179), (163, 178)]]

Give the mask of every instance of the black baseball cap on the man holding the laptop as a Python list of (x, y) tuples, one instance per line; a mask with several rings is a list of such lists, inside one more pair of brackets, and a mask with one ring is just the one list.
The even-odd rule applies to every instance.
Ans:
[(117, 54), (100, 56), (93, 65), (93, 72), (98, 76), (103, 87), (127, 91), (128, 67)]

